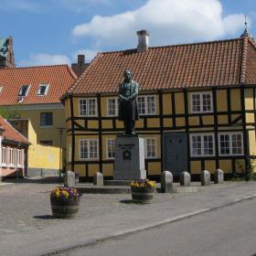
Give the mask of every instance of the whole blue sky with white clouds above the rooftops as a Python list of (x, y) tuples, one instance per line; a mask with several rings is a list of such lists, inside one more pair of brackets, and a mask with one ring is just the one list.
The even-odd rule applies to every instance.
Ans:
[(16, 66), (91, 60), (99, 51), (240, 37), (244, 15), (256, 37), (256, 0), (0, 0), (0, 37), (12, 36)]

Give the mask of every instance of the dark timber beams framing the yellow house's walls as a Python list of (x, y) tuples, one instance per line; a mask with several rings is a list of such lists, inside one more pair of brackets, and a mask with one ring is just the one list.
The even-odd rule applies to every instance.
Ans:
[[(256, 91), (255, 91), (255, 85), (250, 88), (253, 89), (253, 110), (246, 110), (245, 109), (245, 90), (246, 88), (244, 85), (240, 86), (234, 86), (234, 87), (212, 87), (212, 88), (197, 88), (193, 90), (189, 89), (180, 89), (176, 91), (151, 91), (149, 93), (148, 91), (141, 91), (140, 95), (157, 95), (158, 96), (158, 106), (156, 105), (156, 108), (158, 108), (158, 114), (153, 115), (141, 115), (140, 119), (142, 119), (142, 126), (136, 128), (137, 133), (142, 135), (157, 135), (160, 136), (160, 145), (162, 147), (161, 149), (161, 157), (160, 158), (154, 158), (154, 159), (145, 159), (145, 166), (146, 169), (148, 169), (149, 163), (159, 163), (161, 166), (161, 172), (164, 171), (164, 134), (165, 133), (178, 133), (183, 132), (187, 133), (187, 170), (191, 171), (190, 168), (190, 162), (191, 161), (200, 161), (201, 169), (205, 169), (206, 167), (206, 161), (215, 161), (216, 168), (219, 168), (219, 161), (220, 160), (230, 160), (231, 161), (231, 168), (233, 174), (236, 172), (236, 160), (243, 159), (245, 160), (245, 168), (247, 168), (247, 161), (246, 158), (256, 158), (253, 155), (250, 155), (249, 152), (249, 135), (248, 135), (248, 129), (247, 125), (253, 125), (253, 129), (255, 132), (255, 139), (256, 139), (256, 126), (255, 123), (246, 123), (246, 113), (253, 113), (254, 114), (254, 121), (256, 121), (256, 106), (255, 106), (255, 98), (256, 98)], [(231, 90), (237, 89), (240, 90), (240, 110), (232, 110), (231, 106)], [(218, 111), (218, 99), (217, 99), (217, 92), (225, 90), (227, 92), (226, 94), (226, 100), (227, 100), (227, 111), (221, 110)], [(213, 104), (213, 112), (201, 112), (201, 113), (191, 113), (189, 111), (189, 105), (188, 105), (188, 93), (191, 92), (201, 92), (201, 91), (211, 91), (212, 92), (212, 104)], [(183, 93), (184, 96), (184, 113), (176, 113), (176, 105), (179, 102), (176, 102), (176, 93)], [(171, 110), (169, 110), (168, 114), (164, 113), (164, 95), (168, 94), (170, 95), (169, 100), (171, 101)], [(70, 100), (70, 117), (66, 120), (67, 122), (71, 123), (71, 129), (68, 130), (68, 133), (71, 134), (71, 141), (72, 141), (72, 154), (71, 154), (71, 170), (74, 171), (74, 165), (85, 165), (85, 173), (86, 176), (89, 176), (89, 165), (91, 164), (97, 164), (100, 167), (100, 170), (102, 172), (102, 165), (104, 164), (113, 164), (113, 160), (105, 159), (103, 160), (103, 141), (102, 137), (107, 135), (116, 135), (123, 133), (122, 128), (117, 128), (117, 116), (109, 117), (109, 116), (102, 116), (101, 113), (101, 98), (103, 97), (111, 97), (112, 95), (101, 95), (97, 94), (97, 104), (98, 104), (98, 116), (95, 117), (80, 117), (80, 116), (74, 116), (74, 101), (73, 96), (69, 96)], [(116, 95), (114, 95), (116, 96)], [(95, 95), (91, 95), (91, 97), (95, 98)], [(80, 98), (80, 97), (79, 97)], [(85, 98), (90, 98), (90, 96), (86, 96)], [(165, 98), (166, 101), (166, 98)], [(157, 102), (157, 101), (156, 101)], [(107, 108), (106, 106), (104, 106)], [(205, 117), (212, 117), (212, 123), (204, 123)], [(227, 123), (219, 123), (220, 117), (223, 116), (227, 118)], [(199, 124), (191, 124), (190, 123), (190, 117), (197, 117)], [(176, 118), (184, 118), (185, 124), (178, 126), (180, 123), (176, 122)], [(157, 119), (157, 123), (155, 123), (155, 126), (152, 127), (149, 126), (149, 122), (151, 119)], [(172, 126), (165, 126), (164, 120), (171, 120)], [(84, 125), (81, 125), (78, 123), (78, 121), (83, 120)], [(225, 120), (225, 119), (224, 119)], [(99, 126), (98, 128), (88, 128), (88, 124), (90, 121), (98, 121)], [(102, 123), (104, 121), (111, 121), (112, 124), (110, 124), (110, 127), (108, 128), (102, 128)], [(159, 127), (160, 125), (160, 127)], [(112, 126), (112, 127), (111, 127)], [(104, 126), (105, 127), (105, 126)], [(241, 132), (243, 134), (243, 151), (244, 155), (219, 155), (219, 132)], [(201, 156), (201, 157), (192, 157), (190, 155), (190, 133), (214, 133), (214, 143), (215, 143), (215, 155), (213, 156)], [(75, 161), (75, 148), (76, 148), (76, 136), (84, 135), (84, 136), (98, 136), (99, 139), (99, 159), (93, 160), (93, 161)]]

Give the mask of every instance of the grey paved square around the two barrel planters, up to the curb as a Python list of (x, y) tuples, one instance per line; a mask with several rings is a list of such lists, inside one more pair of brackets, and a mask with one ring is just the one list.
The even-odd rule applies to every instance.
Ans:
[[(212, 185), (190, 194), (155, 194), (148, 205), (133, 204), (128, 194), (88, 194), (81, 198), (76, 219), (52, 219), (49, 193), (56, 186), (34, 183), (0, 186), (1, 256), (49, 255), (176, 219), (203, 216), (202, 212), (212, 208), (256, 196), (256, 183)], [(246, 219), (244, 216), (240, 214)], [(178, 223), (185, 222), (172, 225)]]

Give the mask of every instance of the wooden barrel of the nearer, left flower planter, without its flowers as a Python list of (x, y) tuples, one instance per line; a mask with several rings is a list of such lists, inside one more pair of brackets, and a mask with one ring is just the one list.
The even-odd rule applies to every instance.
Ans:
[(73, 218), (79, 212), (80, 197), (61, 199), (50, 196), (52, 215), (55, 218)]

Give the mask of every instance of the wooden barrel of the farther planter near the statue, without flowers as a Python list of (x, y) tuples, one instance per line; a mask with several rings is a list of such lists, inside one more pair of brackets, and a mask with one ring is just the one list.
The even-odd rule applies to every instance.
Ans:
[(150, 203), (154, 192), (155, 187), (131, 187), (132, 199), (135, 203)]

